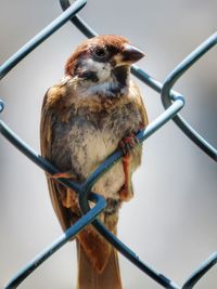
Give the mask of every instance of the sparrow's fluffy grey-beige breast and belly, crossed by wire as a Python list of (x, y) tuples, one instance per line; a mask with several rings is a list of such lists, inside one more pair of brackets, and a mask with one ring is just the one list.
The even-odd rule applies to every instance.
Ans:
[[(78, 109), (72, 115), (67, 145), (73, 170), (78, 179), (86, 180), (115, 149), (120, 140), (137, 132), (141, 116), (132, 104), (114, 110), (90, 113)], [(116, 163), (94, 185), (94, 192), (113, 197), (125, 182), (123, 163)]]

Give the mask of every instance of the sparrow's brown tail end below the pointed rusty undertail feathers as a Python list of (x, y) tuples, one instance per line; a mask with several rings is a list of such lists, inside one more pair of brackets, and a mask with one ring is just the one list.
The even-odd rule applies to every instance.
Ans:
[(102, 272), (93, 268), (82, 246), (77, 240), (78, 278), (77, 289), (122, 289), (117, 252), (111, 248), (108, 261)]

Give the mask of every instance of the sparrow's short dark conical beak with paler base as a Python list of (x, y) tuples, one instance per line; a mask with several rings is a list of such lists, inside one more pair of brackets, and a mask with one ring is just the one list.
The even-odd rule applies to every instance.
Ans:
[(124, 65), (131, 65), (140, 61), (144, 56), (144, 53), (130, 44), (124, 44), (122, 52), (119, 52), (115, 57), (116, 67)]

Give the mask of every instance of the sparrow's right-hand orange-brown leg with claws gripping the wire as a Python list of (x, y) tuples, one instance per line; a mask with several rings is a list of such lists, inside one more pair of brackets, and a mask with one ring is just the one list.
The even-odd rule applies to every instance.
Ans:
[(123, 149), (123, 167), (125, 173), (125, 184), (123, 188), (119, 191), (119, 197), (123, 201), (128, 201), (132, 198), (132, 185), (131, 185), (131, 173), (130, 173), (130, 154), (132, 148), (139, 143), (138, 139), (133, 133), (129, 134), (128, 136), (124, 137), (119, 146)]

